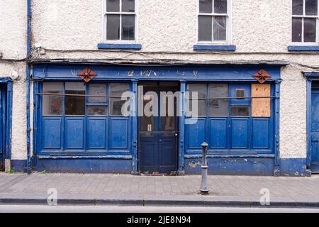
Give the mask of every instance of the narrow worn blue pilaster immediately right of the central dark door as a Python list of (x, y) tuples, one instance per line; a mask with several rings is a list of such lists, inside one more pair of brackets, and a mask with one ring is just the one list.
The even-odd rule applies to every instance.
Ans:
[(181, 81), (181, 98), (179, 100), (179, 170), (178, 175), (185, 175), (184, 153), (185, 153), (185, 111), (186, 111), (186, 81)]

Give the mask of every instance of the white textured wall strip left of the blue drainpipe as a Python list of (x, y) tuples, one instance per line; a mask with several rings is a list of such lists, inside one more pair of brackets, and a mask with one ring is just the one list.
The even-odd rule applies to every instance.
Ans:
[(0, 77), (10, 77), (18, 72), (13, 81), (12, 147), (13, 160), (26, 160), (26, 63), (8, 62), (26, 57), (26, 0), (0, 1)]

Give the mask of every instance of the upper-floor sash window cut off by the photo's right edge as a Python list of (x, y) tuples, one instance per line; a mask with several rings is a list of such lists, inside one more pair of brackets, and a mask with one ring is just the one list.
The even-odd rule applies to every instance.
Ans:
[(318, 43), (318, 23), (318, 0), (292, 0), (293, 43)]

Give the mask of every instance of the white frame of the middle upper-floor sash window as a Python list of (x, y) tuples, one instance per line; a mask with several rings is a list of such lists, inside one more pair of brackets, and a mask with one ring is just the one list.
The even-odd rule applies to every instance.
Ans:
[[(199, 0), (197, 0), (197, 24), (196, 24), (196, 40), (197, 40), (197, 44), (198, 45), (231, 45), (232, 43), (232, 9), (233, 9), (233, 3), (232, 0), (227, 0), (227, 13), (214, 13), (214, 4), (215, 4), (215, 0), (213, 1), (213, 9), (212, 9), (212, 13), (200, 13), (199, 12)], [(226, 19), (226, 40), (213, 40), (214, 37), (214, 23), (212, 21), (212, 41), (199, 41), (198, 40), (198, 32), (199, 32), (199, 28), (198, 28), (198, 18), (199, 16), (227, 16)]]

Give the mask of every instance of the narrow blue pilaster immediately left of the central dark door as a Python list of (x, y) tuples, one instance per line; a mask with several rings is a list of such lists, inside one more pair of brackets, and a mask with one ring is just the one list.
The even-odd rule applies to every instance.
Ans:
[(133, 99), (131, 99), (132, 103), (132, 175), (138, 175), (138, 81), (133, 81), (132, 84), (132, 91), (133, 91)]

